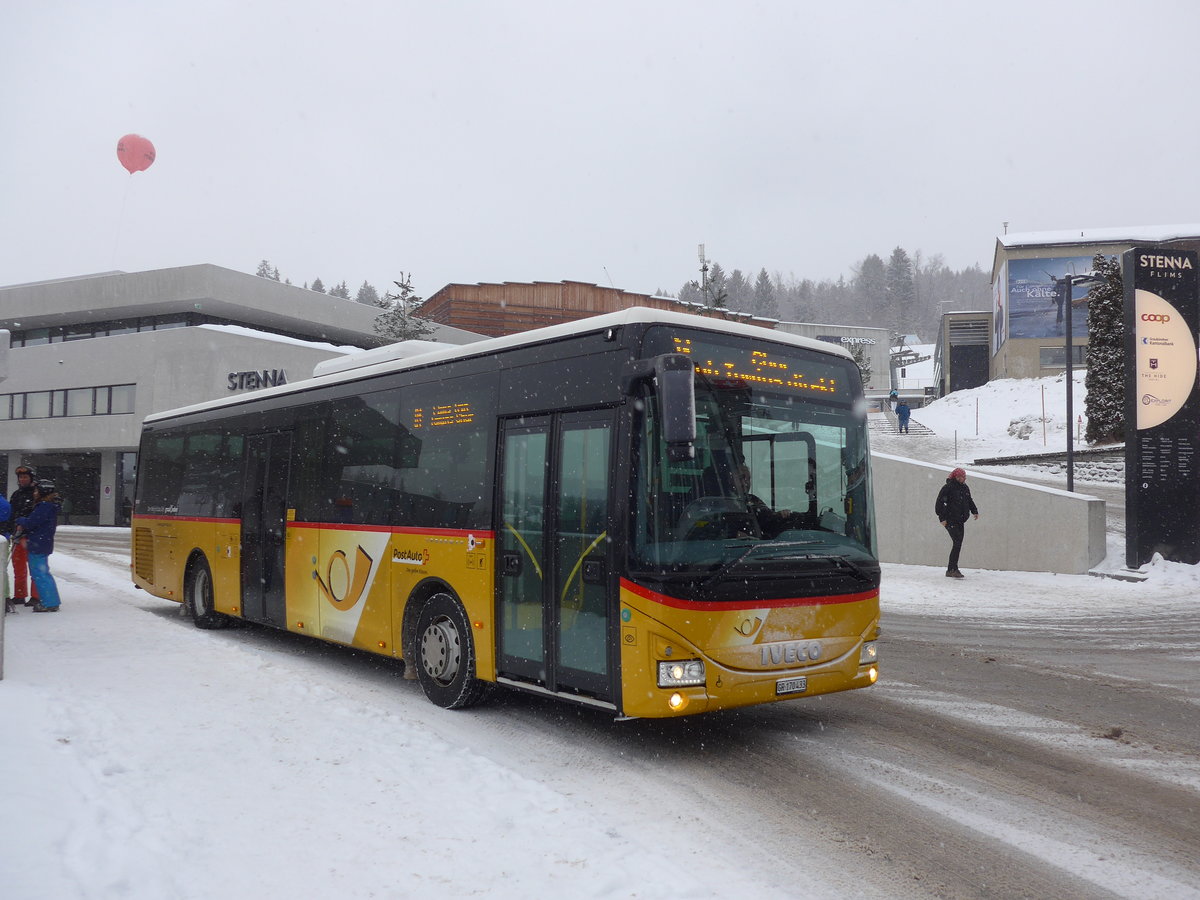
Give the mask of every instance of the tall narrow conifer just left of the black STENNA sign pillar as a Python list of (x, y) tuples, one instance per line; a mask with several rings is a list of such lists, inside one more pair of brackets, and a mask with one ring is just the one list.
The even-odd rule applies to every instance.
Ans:
[(1097, 253), (1092, 271), (1103, 281), (1087, 292), (1088, 444), (1124, 440), (1124, 286), (1116, 257)]

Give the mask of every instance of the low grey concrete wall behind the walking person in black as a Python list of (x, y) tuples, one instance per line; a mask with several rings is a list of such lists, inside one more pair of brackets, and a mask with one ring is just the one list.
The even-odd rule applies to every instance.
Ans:
[[(875, 526), (884, 563), (944, 566), (950, 539), (934, 502), (949, 468), (871, 454)], [(967, 468), (979, 518), (966, 524), (962, 569), (1080, 575), (1105, 556), (1104, 500)]]

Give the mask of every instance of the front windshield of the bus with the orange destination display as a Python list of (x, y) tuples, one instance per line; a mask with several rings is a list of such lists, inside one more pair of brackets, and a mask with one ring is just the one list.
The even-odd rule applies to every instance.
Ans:
[[(694, 458), (672, 462), (646, 397), (635, 446), (634, 564), (721, 575), (743, 564), (875, 564), (866, 415), (854, 364), (802, 347), (652, 330), (647, 355), (696, 368)], [(877, 577), (877, 576), (876, 576)]]

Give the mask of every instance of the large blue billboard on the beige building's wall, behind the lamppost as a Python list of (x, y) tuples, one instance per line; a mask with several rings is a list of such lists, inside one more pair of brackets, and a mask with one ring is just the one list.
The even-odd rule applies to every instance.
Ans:
[[(1066, 331), (1066, 294), (1055, 278), (1079, 275), (1092, 268), (1091, 257), (1008, 260), (1008, 337), (1058, 337)], [(1087, 305), (1078, 292), (1072, 311), (1072, 337), (1087, 338)]]

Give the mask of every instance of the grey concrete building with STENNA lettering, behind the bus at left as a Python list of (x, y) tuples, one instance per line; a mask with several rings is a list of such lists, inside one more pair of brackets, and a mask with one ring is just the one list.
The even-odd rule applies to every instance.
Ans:
[[(124, 524), (148, 414), (388, 343), (379, 312), (215, 265), (0, 287), (0, 488), (29, 464), (59, 482), (71, 523)], [(481, 336), (434, 325), (428, 340)]]

